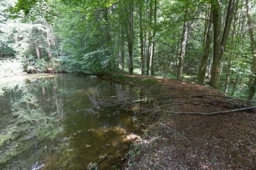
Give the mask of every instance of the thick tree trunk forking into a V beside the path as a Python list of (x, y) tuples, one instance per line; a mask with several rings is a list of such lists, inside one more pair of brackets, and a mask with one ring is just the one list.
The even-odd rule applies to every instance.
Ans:
[(223, 34), (221, 35), (221, 4), (218, 0), (211, 0), (211, 8), (213, 13), (214, 23), (214, 58), (212, 61), (212, 71), (210, 86), (215, 89), (219, 88), (219, 77), (221, 72), (221, 61), (225, 50), (227, 37), (229, 35), (229, 28), (233, 16), (233, 7), (235, 0), (229, 0), (227, 8), (226, 21)]

